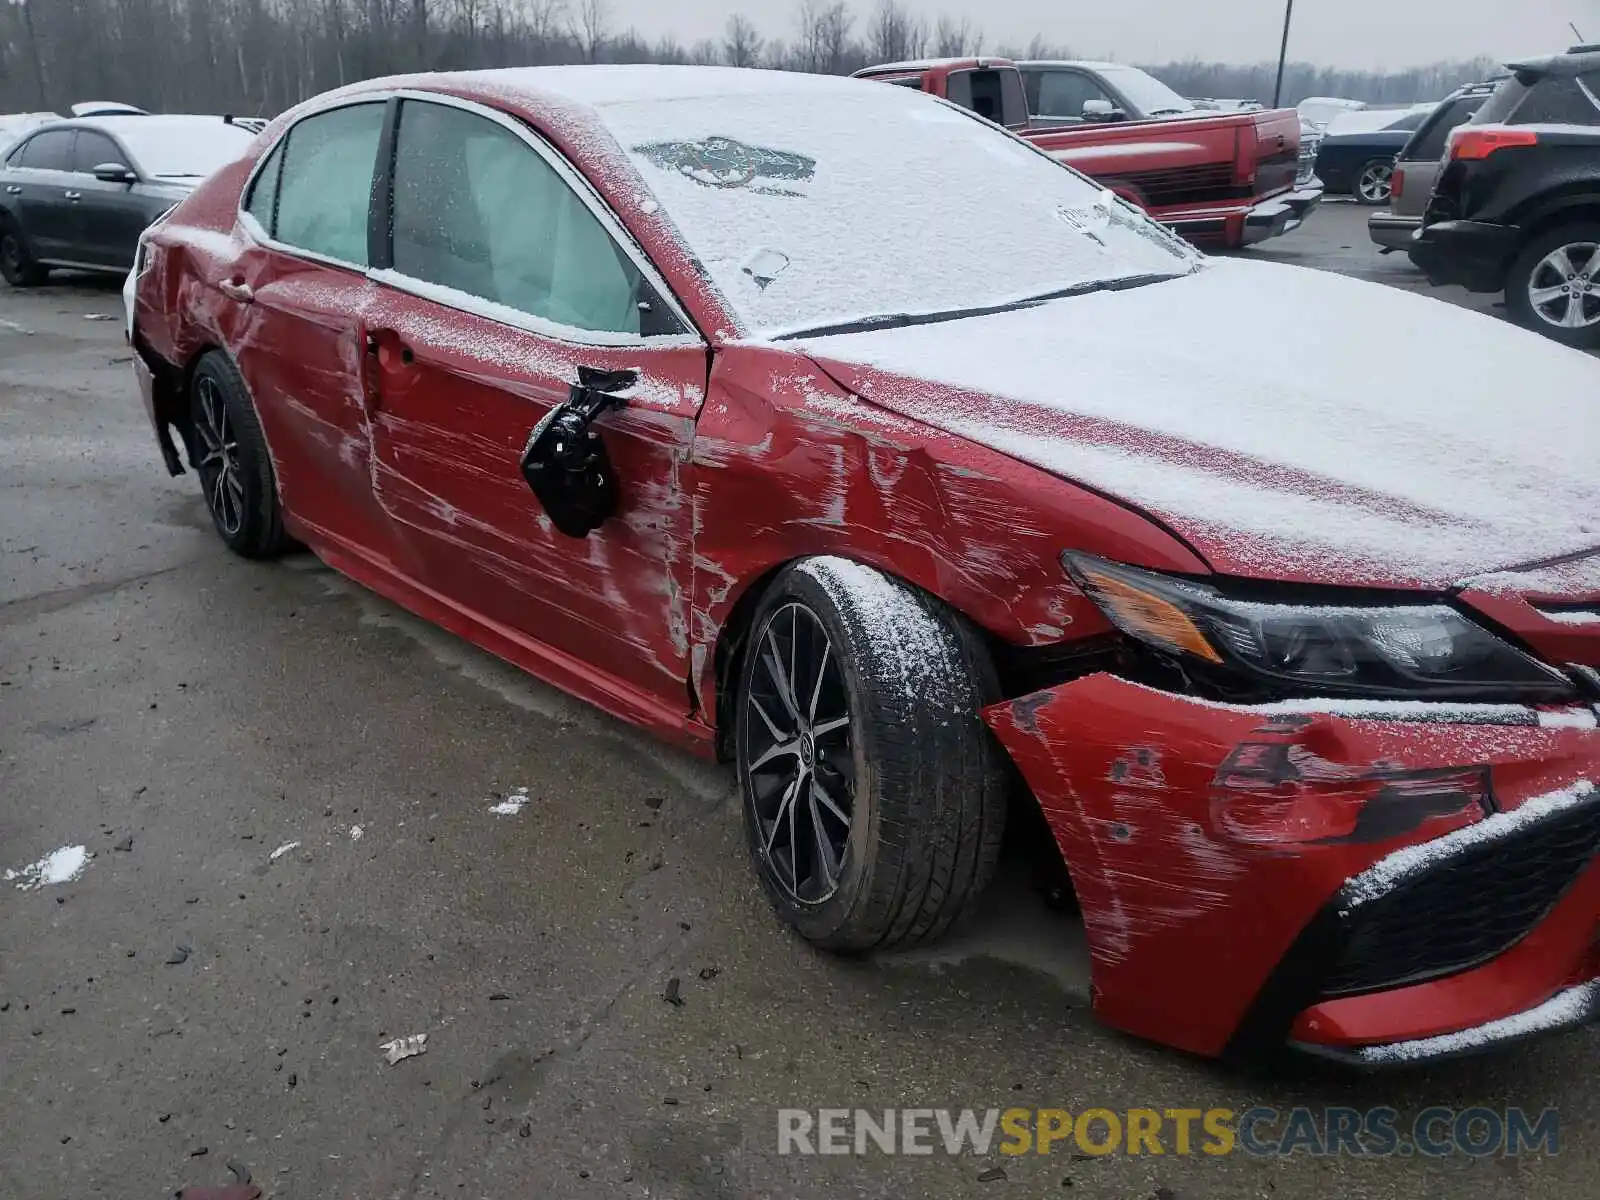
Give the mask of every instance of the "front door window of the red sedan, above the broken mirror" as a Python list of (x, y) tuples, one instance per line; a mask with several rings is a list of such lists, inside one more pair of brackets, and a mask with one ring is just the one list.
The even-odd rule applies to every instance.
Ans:
[(402, 275), (576, 330), (640, 333), (638, 269), (555, 168), (477, 114), (400, 106), (392, 234)]

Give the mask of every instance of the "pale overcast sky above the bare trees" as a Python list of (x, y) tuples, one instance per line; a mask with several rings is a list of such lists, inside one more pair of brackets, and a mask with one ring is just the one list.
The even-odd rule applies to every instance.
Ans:
[[(931, 24), (971, 18), (994, 50), (1035, 32), (1082, 58), (1165, 62), (1275, 59), (1283, 0), (902, 0)], [(618, 29), (685, 45), (720, 37), (744, 13), (766, 37), (790, 38), (797, 0), (610, 0)], [(853, 0), (858, 22), (875, 0)], [(1574, 21), (1600, 42), (1600, 0), (1294, 0), (1290, 56), (1341, 67), (1405, 67), (1475, 54), (1565, 50)]]

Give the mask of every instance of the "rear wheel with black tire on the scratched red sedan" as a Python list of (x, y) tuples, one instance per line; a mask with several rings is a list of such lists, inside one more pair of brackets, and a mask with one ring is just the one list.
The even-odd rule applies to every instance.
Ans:
[(206, 354), (189, 381), (190, 464), (211, 523), (234, 554), (275, 558), (293, 542), (283, 531), (277, 477), (250, 390), (234, 362)]

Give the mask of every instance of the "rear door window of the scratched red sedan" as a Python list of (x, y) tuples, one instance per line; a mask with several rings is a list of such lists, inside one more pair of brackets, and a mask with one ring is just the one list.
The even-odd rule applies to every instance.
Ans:
[(290, 130), (283, 163), (277, 168), (278, 211), (272, 237), (365, 267), (366, 214), (382, 128), (384, 106), (379, 102), (322, 112)]

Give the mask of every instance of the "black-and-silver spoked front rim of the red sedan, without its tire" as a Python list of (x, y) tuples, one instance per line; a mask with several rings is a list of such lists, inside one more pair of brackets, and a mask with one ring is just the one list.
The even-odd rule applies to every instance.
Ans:
[(750, 651), (742, 768), (770, 874), (802, 904), (838, 890), (856, 768), (838, 654), (802, 603), (776, 608)]

